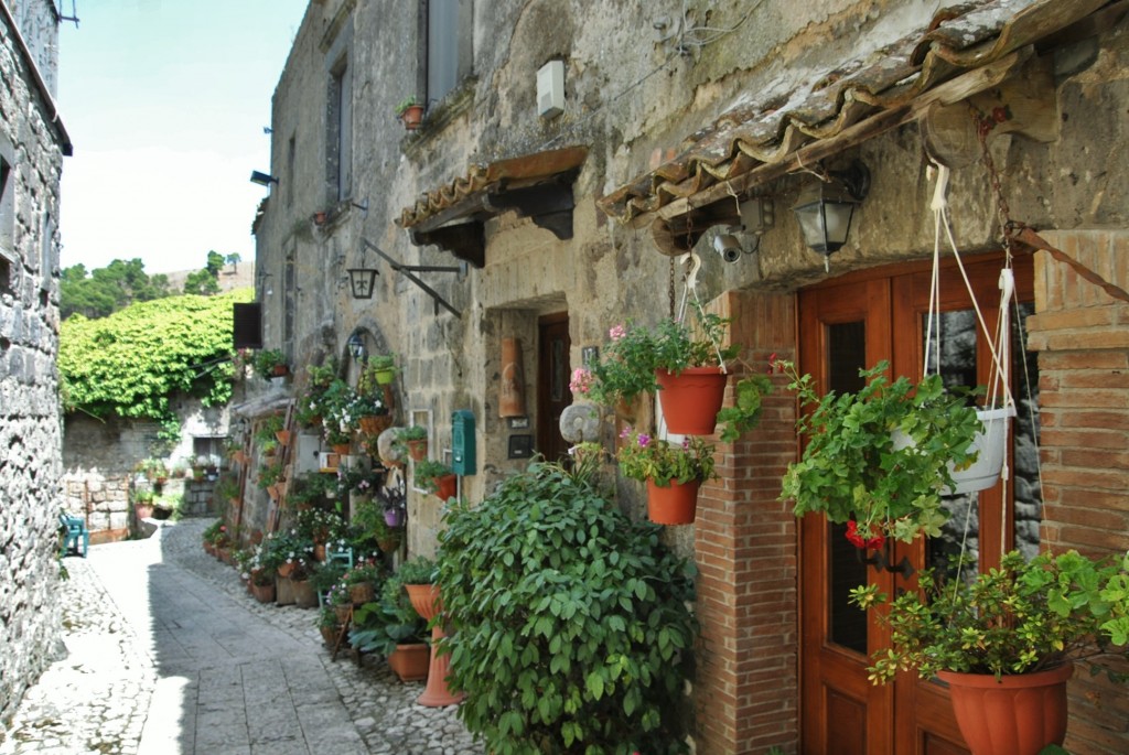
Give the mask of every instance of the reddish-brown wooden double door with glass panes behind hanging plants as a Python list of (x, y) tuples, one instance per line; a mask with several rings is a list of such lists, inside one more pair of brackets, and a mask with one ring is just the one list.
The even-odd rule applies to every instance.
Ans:
[[(995, 328), (1001, 255), (978, 257), (965, 266), (983, 318), (989, 328)], [(1030, 301), (1030, 257), (1017, 261), (1016, 276), (1021, 301)], [(883, 359), (890, 361), (892, 376), (919, 379), (929, 280), (929, 266), (914, 264), (865, 271), (803, 291), (800, 371), (816, 378), (821, 393), (857, 390), (861, 387), (858, 370)], [(990, 349), (975, 327), (966, 287), (951, 265), (943, 270), (940, 280), (940, 371), (948, 385), (983, 385), (989, 378)], [(1024, 311), (1030, 311), (1030, 306)], [(1016, 353), (1022, 350), (1015, 349), (1013, 355)], [(1031, 425), (1031, 411), (1029, 404), (1021, 411), (1026, 418), (1021, 416), (1014, 427)], [(1038, 495), (1038, 490), (1026, 490), (1024, 495)], [(1010, 486), (1005, 491), (1005, 485), (998, 484), (979, 494), (946, 499), (946, 506), (956, 513), (944, 537), (928, 542), (919, 538), (910, 545), (898, 544), (893, 550), (891, 562), (898, 564), (904, 560), (910, 567), (909, 576), (864, 563), (860, 559), (864, 554), (847, 542), (844, 525), (829, 524), (822, 516), (802, 519), (803, 752), (813, 755), (966, 753), (952, 717), (948, 693), (940, 683), (919, 681), (913, 671), (901, 674), (885, 686), (868, 682), (869, 657), (885, 647), (889, 635), (874, 615), (851, 606), (847, 596), (851, 588), (864, 583), (876, 583), (887, 595), (913, 589), (912, 572), (926, 564), (943, 564), (962, 542), (965, 546), (972, 544), (981, 567), (997, 563), (1001, 551), (1015, 542), (1010, 513), (1014, 498)], [(1025, 530), (1030, 529), (1025, 526)], [(1038, 527), (1034, 530), (1038, 533)]]

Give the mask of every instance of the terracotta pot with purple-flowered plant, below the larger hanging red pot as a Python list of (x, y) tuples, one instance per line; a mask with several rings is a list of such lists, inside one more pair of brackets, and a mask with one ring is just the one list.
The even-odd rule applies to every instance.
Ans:
[(625, 428), (615, 458), (620, 472), (647, 483), (647, 516), (660, 525), (688, 525), (694, 520), (698, 489), (714, 472), (714, 447), (686, 436), (671, 444)]

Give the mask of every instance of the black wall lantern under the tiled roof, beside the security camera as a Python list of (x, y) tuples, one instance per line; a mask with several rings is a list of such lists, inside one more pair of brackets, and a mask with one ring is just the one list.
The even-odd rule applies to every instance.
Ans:
[(842, 248), (855, 208), (870, 190), (870, 172), (856, 160), (846, 170), (830, 170), (830, 181), (811, 184), (800, 192), (793, 212), (804, 243), (826, 256)]

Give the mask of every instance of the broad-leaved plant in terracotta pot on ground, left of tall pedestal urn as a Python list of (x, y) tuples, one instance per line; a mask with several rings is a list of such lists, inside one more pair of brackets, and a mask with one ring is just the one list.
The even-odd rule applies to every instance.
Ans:
[(379, 599), (353, 612), (349, 642), (361, 652), (378, 652), (401, 682), (427, 678), (430, 661), (427, 622), (412, 607), (399, 574), (380, 589)]

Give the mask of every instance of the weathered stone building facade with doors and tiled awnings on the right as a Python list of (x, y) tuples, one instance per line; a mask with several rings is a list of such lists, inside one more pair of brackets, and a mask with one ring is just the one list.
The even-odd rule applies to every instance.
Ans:
[[(835, 337), (863, 366), (885, 358), (918, 375), (938, 228), (931, 157), (952, 168), (972, 298), (997, 314), (1010, 258), (1018, 353), (1038, 369), (1016, 427), (1041, 421), (1039, 453), (1026, 454), (1042, 459), (1041, 484), (980, 495), (963, 520), (979, 528), (982, 562), (1021, 544), (1129, 548), (1123, 9), (937, 6), (310, 3), (274, 93), (278, 183), (254, 225), (266, 345), (297, 366), (295, 392), (303, 367), (329, 354), (355, 371), (355, 334), (370, 353), (395, 352), (397, 419), (429, 425), (434, 457), (449, 458), (456, 410), (475, 418), (478, 467), (462, 484), (481, 500), (525, 466), (527, 442), (560, 447), (560, 387), (586, 349), (612, 325), (672, 314), (681, 253), (700, 258), (693, 293), (733, 318), (747, 369), (777, 354), (825, 376)], [(562, 100), (539, 91), (554, 62)], [(394, 116), (406, 95), (427, 102), (417, 131)], [(846, 245), (824, 257), (790, 209), (856, 161), (869, 185)], [(1041, 239), (1005, 255), (1001, 212)], [(1047, 247), (1061, 254), (1035, 251)], [(964, 311), (944, 248), (942, 306)], [(347, 271), (361, 267), (379, 271), (370, 299), (350, 292)], [(965, 335), (979, 381), (984, 339)], [(520, 346), (517, 422), (499, 411), (504, 340)], [(777, 500), (798, 448), (795, 397), (777, 384), (761, 424), (718, 444), (721, 480), (704, 486), (695, 524), (666, 533), (700, 572), (695, 752), (963, 752), (937, 685), (866, 682), (881, 630), (832, 594), (837, 574), (869, 572), (840, 564), (829, 528)], [(1016, 454), (1029, 442), (1016, 439)], [(618, 489), (642, 516), (640, 488)], [(1016, 511), (1041, 511), (1041, 526), (1013, 527)], [(410, 553), (434, 550), (440, 518), (436, 499), (410, 491)], [(930, 558), (922, 543), (904, 555), (917, 568)], [(889, 573), (869, 579), (895, 587)], [(1126, 749), (1120, 691), (1076, 679), (1070, 699), (1070, 752)]]

